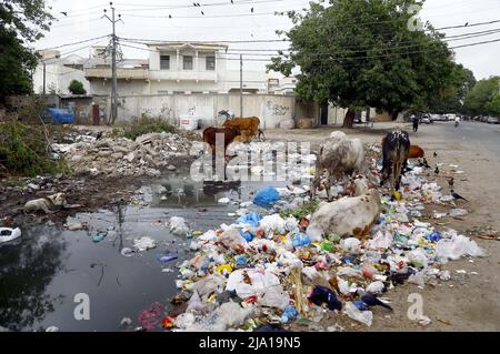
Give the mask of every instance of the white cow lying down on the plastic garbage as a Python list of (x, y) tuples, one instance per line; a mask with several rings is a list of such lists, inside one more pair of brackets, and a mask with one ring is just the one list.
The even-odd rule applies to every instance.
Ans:
[(322, 202), (312, 214), (308, 234), (320, 236), (367, 235), (382, 212), (381, 195), (366, 178), (354, 180), (357, 196), (344, 196), (334, 202)]

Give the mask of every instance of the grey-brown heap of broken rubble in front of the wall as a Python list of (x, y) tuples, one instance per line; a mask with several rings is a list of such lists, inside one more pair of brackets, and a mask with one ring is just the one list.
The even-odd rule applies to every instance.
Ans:
[(83, 135), (71, 144), (52, 144), (54, 158), (63, 155), (77, 173), (92, 176), (158, 176), (161, 169), (176, 170), (171, 161), (189, 154), (191, 140), (172, 133), (149, 133), (97, 140)]

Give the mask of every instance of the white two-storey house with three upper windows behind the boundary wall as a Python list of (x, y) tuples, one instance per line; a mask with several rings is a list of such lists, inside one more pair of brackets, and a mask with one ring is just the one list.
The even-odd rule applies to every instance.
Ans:
[[(94, 55), (84, 67), (90, 93), (108, 95), (111, 62), (100, 55), (102, 47), (93, 49)], [(227, 50), (228, 45), (208, 42), (149, 43), (149, 59), (119, 62), (119, 95), (240, 92), (240, 71), (228, 69), (238, 58), (228, 55)], [(266, 71), (243, 69), (243, 92), (269, 93)]]

